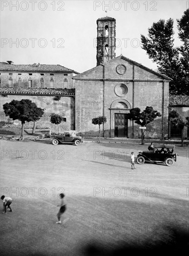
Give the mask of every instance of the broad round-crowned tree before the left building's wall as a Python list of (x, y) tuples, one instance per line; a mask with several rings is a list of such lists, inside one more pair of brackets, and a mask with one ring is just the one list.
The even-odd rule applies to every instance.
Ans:
[(25, 122), (37, 121), (44, 114), (42, 108), (38, 108), (37, 105), (30, 100), (11, 101), (5, 103), (3, 109), (6, 116), (9, 116), (13, 120), (19, 120), (22, 123), (20, 141), (24, 140), (24, 125)]

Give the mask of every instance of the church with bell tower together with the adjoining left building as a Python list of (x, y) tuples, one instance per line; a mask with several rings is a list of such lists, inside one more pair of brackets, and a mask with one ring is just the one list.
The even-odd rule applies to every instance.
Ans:
[[(48, 115), (64, 112), (68, 128), (85, 136), (98, 134), (98, 126), (92, 124), (92, 118), (103, 115), (107, 117), (102, 127), (105, 137), (139, 138), (139, 125), (128, 120), (127, 115), (131, 108), (143, 111), (151, 106), (162, 116), (147, 125), (145, 135), (167, 136), (170, 78), (122, 54), (115, 57), (114, 18), (97, 20), (96, 59), (97, 66), (82, 74), (60, 65), (1, 63), (0, 94), (6, 94), (7, 98), (1, 97), (0, 112), (3, 113), (5, 102), (31, 99), (38, 107), (47, 109)], [(3, 85), (5, 73), (7, 81)], [(32, 78), (34, 73), (36, 83)], [(25, 74), (25, 83), (19, 82), (20, 74)], [(13, 77), (18, 78), (15, 84)], [(61, 96), (60, 101), (53, 101), (55, 95)]]

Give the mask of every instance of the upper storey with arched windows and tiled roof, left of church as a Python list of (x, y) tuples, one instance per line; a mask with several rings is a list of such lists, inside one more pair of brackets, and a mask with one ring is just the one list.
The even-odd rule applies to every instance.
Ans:
[(74, 88), (72, 77), (78, 72), (61, 65), (14, 65), (0, 62), (1, 88)]

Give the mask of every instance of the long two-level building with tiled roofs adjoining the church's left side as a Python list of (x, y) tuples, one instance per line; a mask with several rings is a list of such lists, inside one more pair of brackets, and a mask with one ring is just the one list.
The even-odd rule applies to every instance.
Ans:
[[(14, 65), (0, 62), (0, 121), (5, 121), (3, 104), (29, 99), (45, 109), (42, 121), (52, 113), (63, 114), (65, 127), (75, 129), (75, 81), (78, 72), (61, 65)], [(58, 101), (56, 96), (60, 96)]]

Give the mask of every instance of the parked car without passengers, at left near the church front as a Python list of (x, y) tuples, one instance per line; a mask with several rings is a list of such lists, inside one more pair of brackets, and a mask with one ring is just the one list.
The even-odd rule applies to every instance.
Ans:
[(79, 146), (84, 139), (82, 136), (76, 136), (76, 131), (67, 131), (61, 135), (50, 135), (50, 138), (53, 145), (75, 144), (76, 146)]

